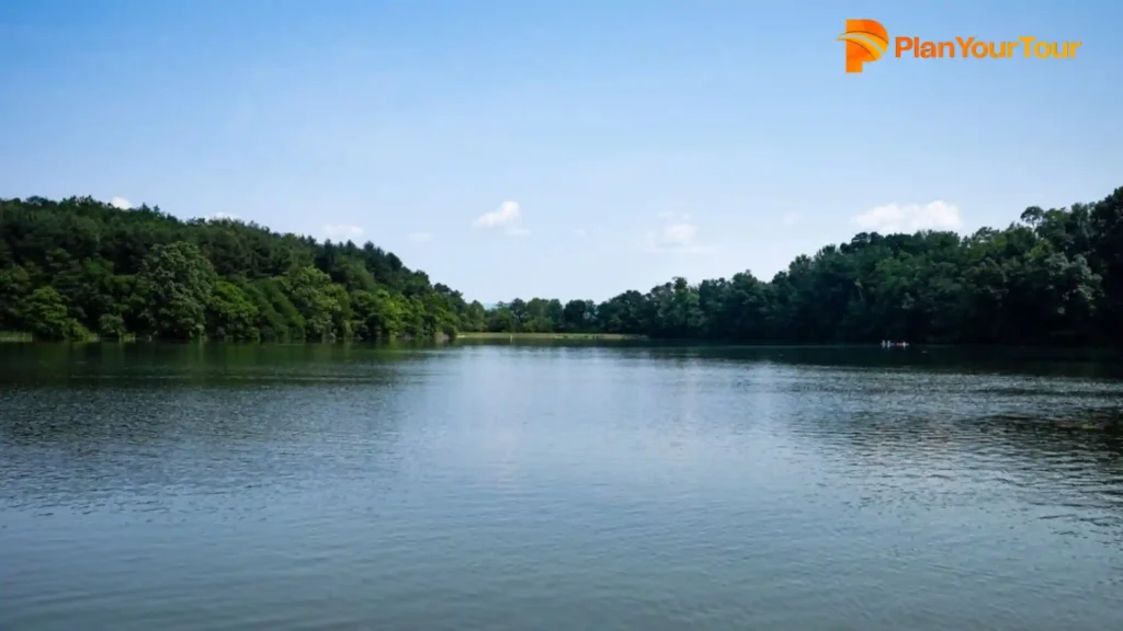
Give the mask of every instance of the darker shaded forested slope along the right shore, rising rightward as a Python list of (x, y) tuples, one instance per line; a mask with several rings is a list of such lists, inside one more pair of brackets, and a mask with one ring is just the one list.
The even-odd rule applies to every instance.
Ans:
[[(605, 271), (611, 274), (611, 271)], [(791, 342), (1119, 344), (1123, 188), (1030, 208), (1004, 230), (860, 234), (798, 256), (770, 282), (684, 278), (612, 300), (514, 300), (493, 331), (583, 331)]]

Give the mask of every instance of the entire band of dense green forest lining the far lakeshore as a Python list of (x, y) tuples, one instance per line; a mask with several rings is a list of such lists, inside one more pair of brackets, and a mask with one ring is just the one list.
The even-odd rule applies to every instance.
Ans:
[(602, 332), (788, 342), (1123, 342), (1123, 188), (970, 236), (860, 234), (745, 272), (485, 310), (373, 244), (90, 198), (0, 200), (0, 330), (36, 339), (428, 339)]

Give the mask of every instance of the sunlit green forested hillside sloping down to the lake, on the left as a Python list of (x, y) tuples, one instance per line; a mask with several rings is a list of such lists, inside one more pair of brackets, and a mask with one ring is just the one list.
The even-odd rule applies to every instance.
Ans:
[(483, 305), (372, 244), (90, 198), (0, 200), (0, 330), (35, 339), (431, 338), (483, 321)]

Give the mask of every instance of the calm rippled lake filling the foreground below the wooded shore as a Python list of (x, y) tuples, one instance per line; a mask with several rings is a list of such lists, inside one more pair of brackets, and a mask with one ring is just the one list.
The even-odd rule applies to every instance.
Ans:
[(0, 345), (0, 629), (1120, 629), (1121, 409), (1044, 351)]

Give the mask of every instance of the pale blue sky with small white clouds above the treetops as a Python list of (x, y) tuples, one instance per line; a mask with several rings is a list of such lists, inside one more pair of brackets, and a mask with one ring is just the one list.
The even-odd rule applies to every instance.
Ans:
[[(1072, 60), (883, 58), (891, 37)], [(770, 278), (1123, 185), (1123, 3), (7, 0), (0, 196), (372, 240), (485, 302)]]

